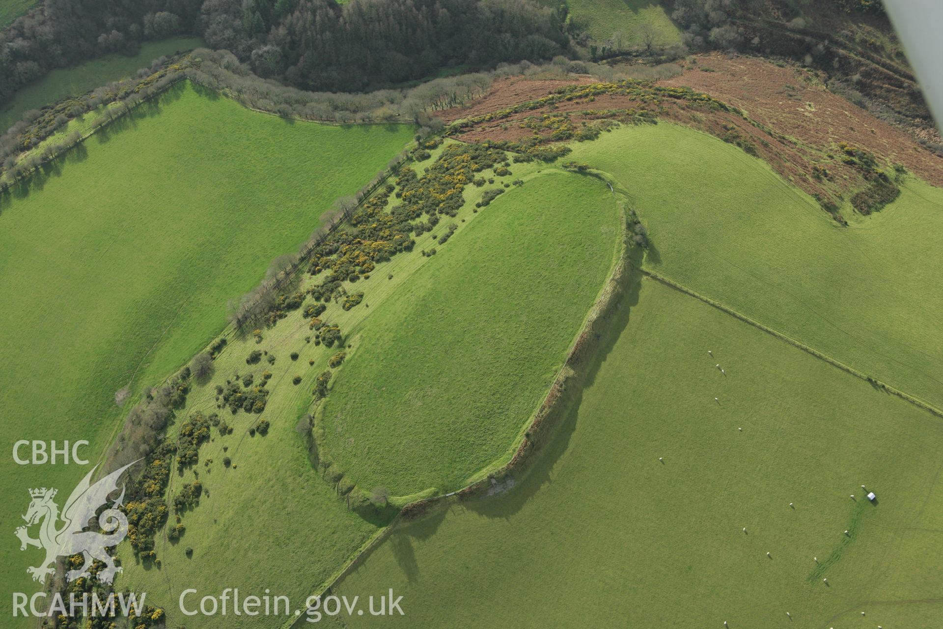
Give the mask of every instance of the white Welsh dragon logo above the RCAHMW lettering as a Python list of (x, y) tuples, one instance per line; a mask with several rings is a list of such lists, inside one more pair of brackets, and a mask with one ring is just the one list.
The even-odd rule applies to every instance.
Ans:
[[(23, 516), (26, 525), (18, 526), (15, 534), (17, 538), (20, 538), (21, 551), (25, 551), (26, 546), (35, 546), (46, 551), (46, 558), (39, 566), (26, 569), (33, 575), (33, 581), (45, 583), (46, 577), (56, 571), (54, 566), (57, 557), (79, 553), (85, 561), (78, 570), (66, 573), (66, 581), (90, 576), (89, 567), (93, 559), (98, 559), (105, 564), (105, 568), (98, 571), (98, 580), (103, 583), (111, 583), (115, 574), (122, 571), (121, 568), (115, 566), (114, 560), (105, 552), (105, 549), (117, 546), (127, 535), (127, 518), (117, 508), (123, 505), (124, 485), (121, 488), (121, 495), (98, 517), (98, 525), (105, 533), (82, 529), (89, 525), (89, 521), (95, 516), (95, 511), (100, 506), (108, 504), (108, 494), (118, 489), (118, 479), (124, 471), (137, 462), (128, 463), (124, 468), (111, 472), (91, 485), (91, 475), (98, 468), (96, 465), (73, 489), (69, 499), (65, 501), (61, 516), (58, 505), (53, 502), (58, 489), (29, 490), (29, 497), (32, 501), (26, 509), (26, 515)], [(61, 526), (58, 525), (60, 518), (63, 522)], [(26, 529), (40, 521), (40, 538), (30, 538)]]

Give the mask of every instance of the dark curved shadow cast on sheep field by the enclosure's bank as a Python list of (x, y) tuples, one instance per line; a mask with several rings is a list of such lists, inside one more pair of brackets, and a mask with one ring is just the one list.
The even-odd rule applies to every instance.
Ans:
[(569, 389), (573, 392), (569, 390), (564, 392), (564, 395), (569, 395), (570, 398), (558, 411), (563, 413), (563, 419), (558, 420), (559, 425), (543, 440), (542, 451), (533, 455), (534, 462), (523, 472), (523, 477), (519, 479), (516, 487), (497, 499), (485, 497), (463, 503), (467, 508), (488, 518), (506, 520), (518, 513), (544, 485), (554, 482), (554, 466), (569, 448), (570, 440), (576, 430), (579, 409), (583, 402), (583, 392), (592, 387), (596, 381), (600, 368), (609, 353), (612, 352), (622, 331), (629, 324), (632, 307), (638, 303), (638, 291), (641, 287), (642, 277), (638, 271), (641, 264), (639, 250), (633, 249), (630, 253), (630, 264), (632, 271), (628, 273), (623, 281), (620, 295), (604, 318), (594, 327), (596, 346), (585, 358), (589, 361), (586, 367), (587, 371), (581, 379), (571, 383)]

